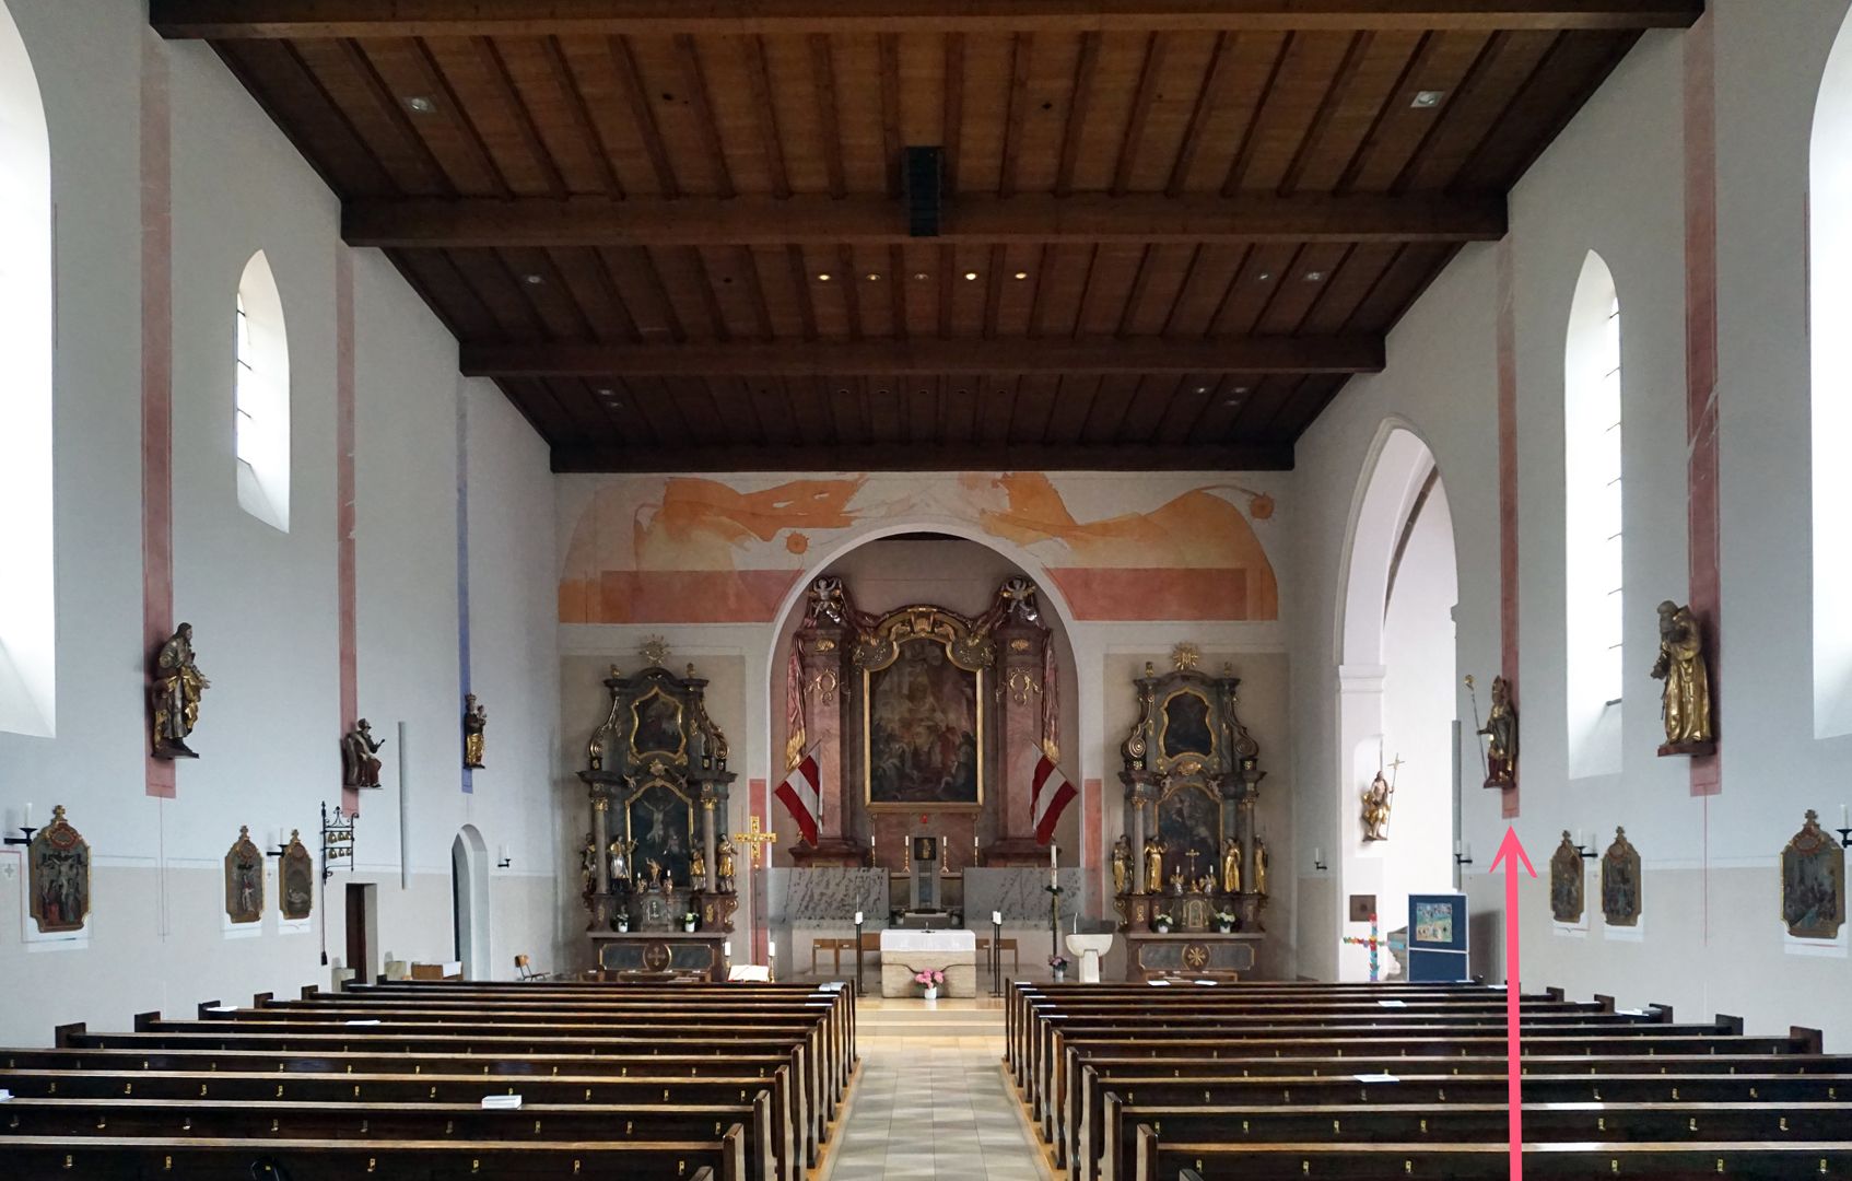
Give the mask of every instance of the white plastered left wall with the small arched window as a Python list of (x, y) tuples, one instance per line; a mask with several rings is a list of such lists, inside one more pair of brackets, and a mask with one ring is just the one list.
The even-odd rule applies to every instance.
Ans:
[[(230, 931), (220, 859), (250, 826), (319, 842), (341, 798), (337, 739), (333, 194), (200, 44), (157, 44), (172, 94), (172, 553), (176, 620), (211, 678), (196, 763), (178, 798), (144, 794), (141, 566), (141, 67), (146, 11), (126, 0), (11, 6), (52, 135), (56, 242), (56, 739), (0, 733), (0, 820), (54, 803), (94, 852), (83, 939), (26, 942), (20, 850), (0, 850), (0, 1042), (52, 1026), (126, 1027), (137, 1011), (328, 983), (320, 931)], [(232, 309), (265, 250), (291, 355), (291, 528), (237, 505)], [(354, 254), (357, 389), (357, 665), (361, 711), (394, 739), (369, 794), (356, 870), (317, 924), (343, 953), (341, 887), (380, 883), (382, 948), (452, 959), (450, 844), (474, 824), (491, 870), (491, 966), (556, 959), (557, 879), (546, 770), (557, 729), (554, 481), (546, 448), (491, 387), (459, 381), (456, 342), (378, 254)], [(469, 400), (474, 685), (491, 711), (489, 770), (461, 792), (457, 405)], [(398, 839), (394, 722), (411, 733), (409, 859)], [(402, 874), (402, 868), (407, 872)], [(332, 905), (328, 905), (332, 903)]]

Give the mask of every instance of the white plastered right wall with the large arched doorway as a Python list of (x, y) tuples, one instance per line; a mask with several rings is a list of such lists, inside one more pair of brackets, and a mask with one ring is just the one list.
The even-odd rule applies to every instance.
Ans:
[[(1724, 789), (1693, 798), (1687, 765), (1654, 755), (1658, 683), (1652, 607), (1687, 594), (1683, 33), (1648, 33), (1545, 152), (1511, 198), (1519, 439), (1519, 705), (1522, 814), (1515, 827), (1539, 872), (1563, 829), (1615, 826), (1645, 859), (1645, 926), (1558, 935), (1545, 883), (1522, 889), (1526, 985), (1611, 992), (1622, 1005), (1667, 1001), (1680, 1014), (1733, 1013), (1752, 1029), (1789, 1024), (1852, 1040), (1843, 948), (1802, 948), (1778, 918), (1776, 857), (1804, 809), (1824, 820), (1852, 790), (1852, 740), (1813, 737), (1809, 670), (1809, 387), (1806, 341), (1806, 178), (1813, 96), (1846, 13), (1843, 0), (1713, 0), (1719, 159), (1719, 407)], [(1626, 415), (1626, 683), (1619, 774), (1570, 777), (1565, 759), (1563, 329), (1589, 250), (1613, 268), (1622, 305)], [(1485, 685), (1498, 670), (1498, 246), (1469, 246), (1389, 339), (1387, 370), (1354, 381), (1304, 437), (1295, 483), (1295, 774), (1330, 783), (1337, 702), (1332, 648), (1350, 489), (1389, 418), (1417, 426), (1446, 479), (1459, 550), (1458, 666)], [(1470, 718), (1461, 696), (1459, 716)], [(1470, 726), (1469, 726), (1470, 729)], [(1506, 822), (1495, 792), (1472, 789), (1465, 837), (1472, 907), (1496, 916), (1487, 874)], [(1298, 800), (1300, 864), (1330, 848), (1339, 816)], [(1593, 885), (1591, 876), (1591, 885)], [(1335, 974), (1337, 931), (1300, 907), (1302, 970)], [(1591, 898), (1595, 892), (1591, 890)], [(1595, 907), (1591, 907), (1595, 909)], [(1474, 937), (1496, 948), (1496, 922)], [(1491, 948), (1485, 948), (1491, 950)], [(1476, 957), (1496, 977), (1500, 959)], [(1319, 964), (1313, 968), (1313, 964)]]

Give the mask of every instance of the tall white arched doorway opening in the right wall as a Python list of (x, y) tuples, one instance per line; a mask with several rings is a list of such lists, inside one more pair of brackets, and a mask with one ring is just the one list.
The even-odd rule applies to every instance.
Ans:
[[(1454, 885), (1458, 689), (1454, 522), (1433, 454), (1387, 422), (1365, 465), (1339, 615), (1337, 920), (1363, 937), (1350, 898), (1374, 896), (1380, 931), (1402, 927), (1411, 892)], [(1369, 839), (1363, 792), (1395, 787), (1383, 840)], [(1383, 953), (1383, 974), (1393, 959)], [(1363, 979), (1369, 951), (1346, 946), (1339, 979)]]

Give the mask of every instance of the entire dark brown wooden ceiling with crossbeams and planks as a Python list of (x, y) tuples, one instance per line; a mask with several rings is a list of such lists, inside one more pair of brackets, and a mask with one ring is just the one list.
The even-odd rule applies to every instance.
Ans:
[[(557, 470), (1280, 468), (1698, 0), (152, 0)], [(911, 237), (907, 146), (943, 148)], [(1461, 391), (1461, 396), (1487, 396)]]

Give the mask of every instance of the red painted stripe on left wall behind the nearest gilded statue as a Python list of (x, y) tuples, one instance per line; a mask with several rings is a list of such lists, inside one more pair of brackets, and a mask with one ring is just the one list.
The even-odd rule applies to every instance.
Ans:
[[(174, 620), (174, 176), (167, 46), (141, 44), (141, 620), (143, 659)], [(146, 711), (146, 705), (143, 705)], [(152, 733), (143, 726), (143, 748)], [(178, 794), (174, 763), (148, 755), (146, 792)]]

